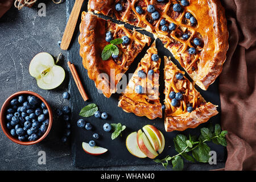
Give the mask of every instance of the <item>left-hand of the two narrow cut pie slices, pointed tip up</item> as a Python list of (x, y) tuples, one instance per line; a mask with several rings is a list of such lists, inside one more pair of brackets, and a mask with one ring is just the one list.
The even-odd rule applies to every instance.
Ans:
[(158, 82), (160, 58), (156, 56), (157, 54), (154, 42), (138, 64), (125, 92), (119, 98), (118, 106), (127, 113), (146, 116), (149, 119), (162, 118)]

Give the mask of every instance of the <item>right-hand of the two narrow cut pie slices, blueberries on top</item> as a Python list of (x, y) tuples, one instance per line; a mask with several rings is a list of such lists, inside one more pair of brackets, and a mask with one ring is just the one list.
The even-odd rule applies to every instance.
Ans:
[(218, 114), (216, 105), (206, 102), (172, 61), (164, 56), (166, 131), (195, 128)]

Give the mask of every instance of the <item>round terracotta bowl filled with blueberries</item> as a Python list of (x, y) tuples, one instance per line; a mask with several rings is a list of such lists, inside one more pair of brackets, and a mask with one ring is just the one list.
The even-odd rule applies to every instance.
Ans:
[(46, 138), (52, 126), (52, 110), (42, 96), (30, 91), (11, 95), (2, 106), (3, 133), (15, 143), (31, 145)]

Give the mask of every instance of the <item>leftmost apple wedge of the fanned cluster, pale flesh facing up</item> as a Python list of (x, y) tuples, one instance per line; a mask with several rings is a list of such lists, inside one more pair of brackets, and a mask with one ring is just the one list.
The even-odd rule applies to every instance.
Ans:
[(139, 149), (137, 144), (137, 132), (134, 131), (126, 138), (127, 150), (137, 158), (146, 158), (147, 156)]

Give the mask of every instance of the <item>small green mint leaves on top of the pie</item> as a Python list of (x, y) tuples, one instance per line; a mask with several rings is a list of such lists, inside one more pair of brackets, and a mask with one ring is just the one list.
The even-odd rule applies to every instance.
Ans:
[(112, 53), (114, 55), (119, 54), (119, 49), (117, 46), (118, 44), (122, 44), (123, 40), (122, 39), (114, 39), (110, 41), (110, 44), (106, 45), (101, 53), (101, 58), (102, 60), (108, 60), (110, 56), (112, 56)]

